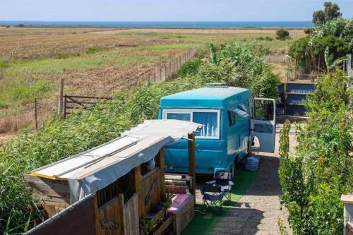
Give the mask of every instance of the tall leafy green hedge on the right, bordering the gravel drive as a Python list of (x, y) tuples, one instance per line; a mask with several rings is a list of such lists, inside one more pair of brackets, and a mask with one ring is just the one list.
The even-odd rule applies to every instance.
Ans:
[(350, 95), (342, 71), (321, 76), (306, 104), (309, 120), (297, 126), (296, 156), (289, 155), (289, 121), (280, 133), (280, 200), (294, 234), (342, 234), (340, 195), (353, 192)]

